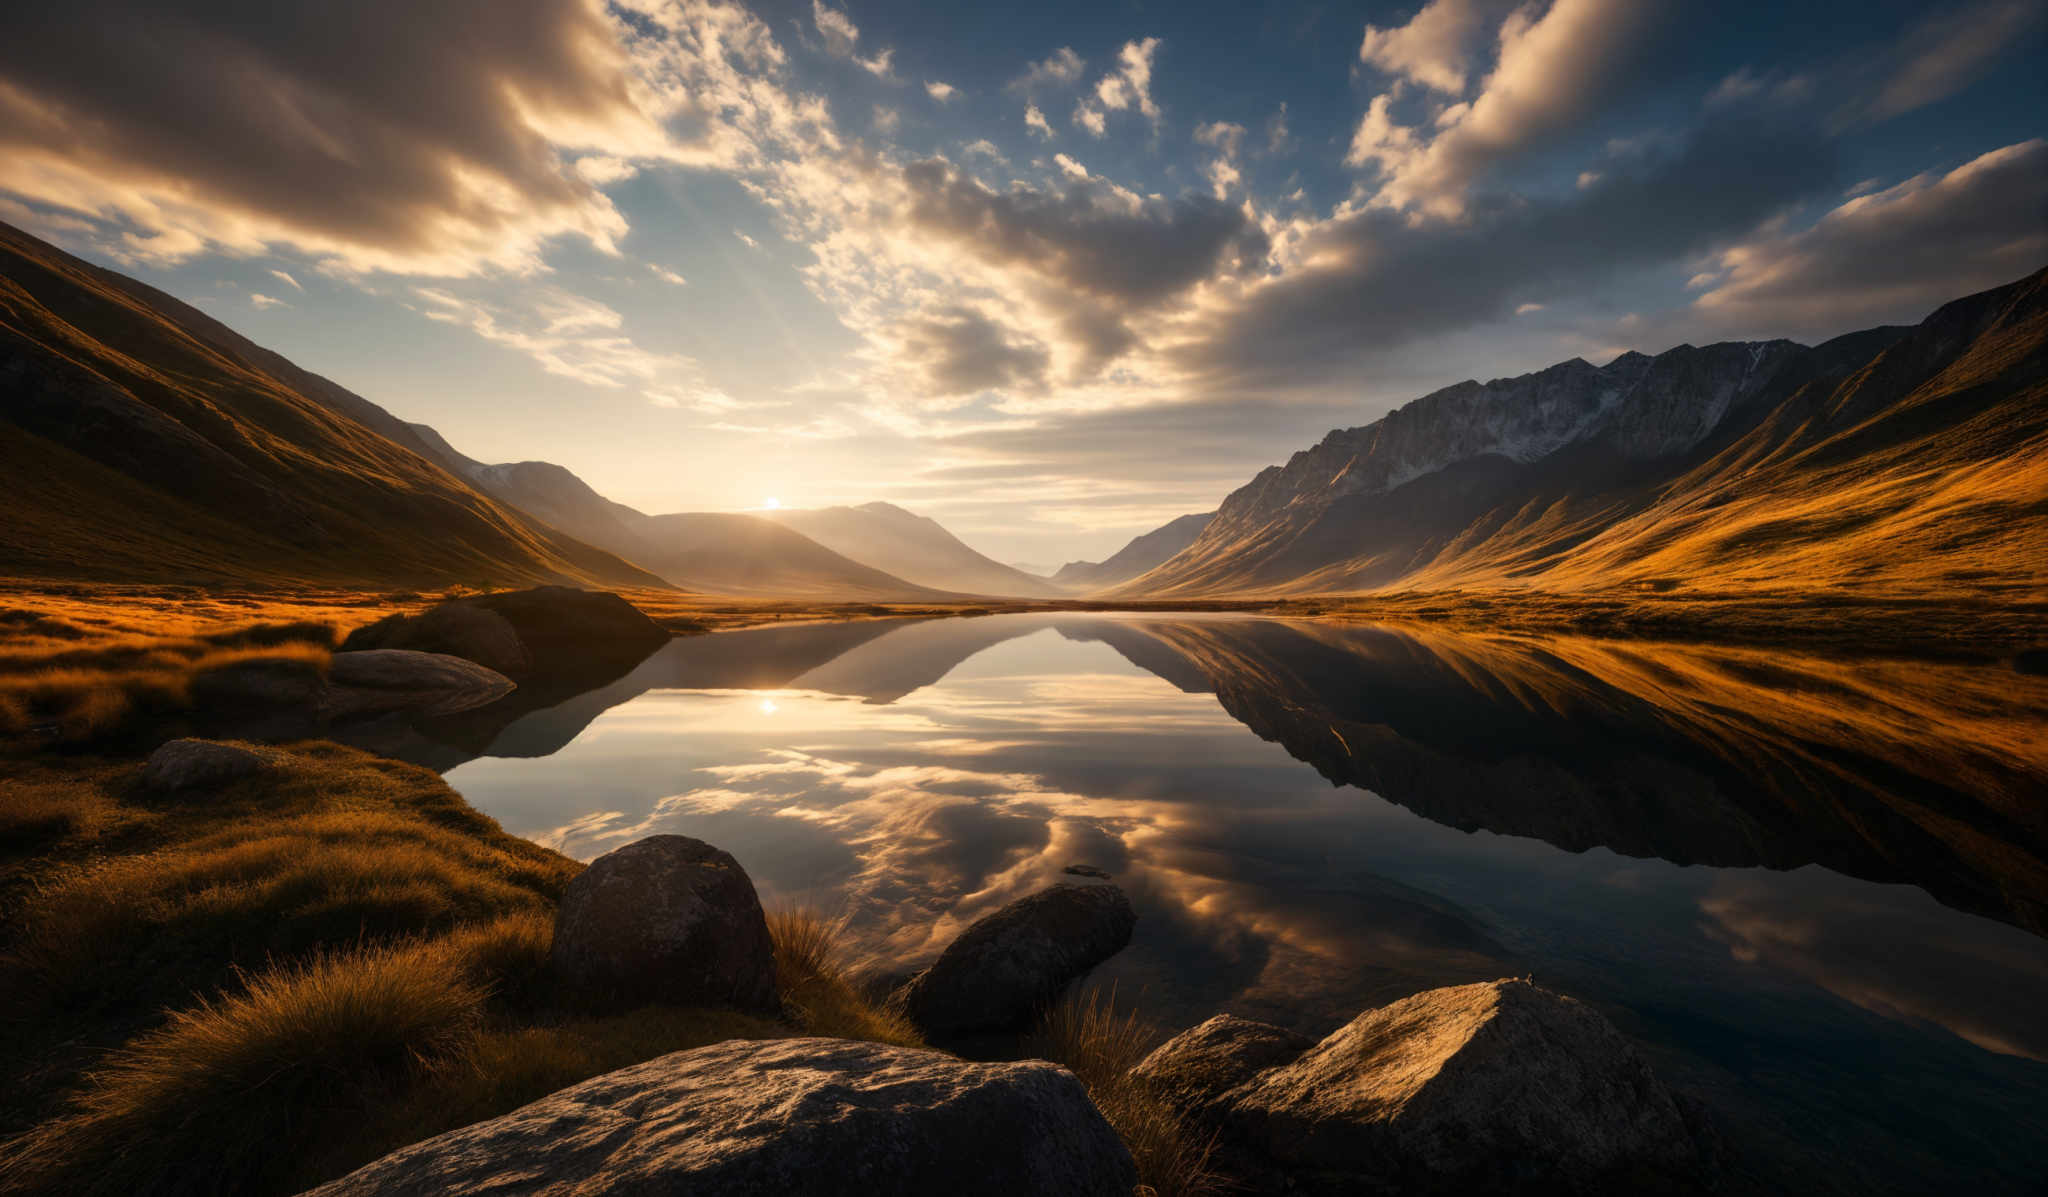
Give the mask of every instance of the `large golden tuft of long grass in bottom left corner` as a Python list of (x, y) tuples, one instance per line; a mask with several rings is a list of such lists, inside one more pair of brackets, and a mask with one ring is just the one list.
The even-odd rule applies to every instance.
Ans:
[[(467, 1047), (485, 990), (444, 945), (319, 953), (174, 1010), (86, 1076), (72, 1111), (0, 1156), (0, 1181), (84, 1197), (293, 1183), (340, 1111)], [(326, 1119), (305, 1117), (326, 1111)]]

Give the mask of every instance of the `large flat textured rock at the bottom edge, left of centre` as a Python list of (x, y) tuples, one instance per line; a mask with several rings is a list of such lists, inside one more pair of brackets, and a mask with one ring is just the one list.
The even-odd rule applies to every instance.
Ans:
[(1071, 1072), (848, 1039), (733, 1039), (563, 1088), (305, 1197), (1128, 1197)]

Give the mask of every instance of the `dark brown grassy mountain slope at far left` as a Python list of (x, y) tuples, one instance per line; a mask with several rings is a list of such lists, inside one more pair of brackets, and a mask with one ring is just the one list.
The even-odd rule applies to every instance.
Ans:
[(424, 455), (369, 400), (0, 223), (0, 570), (662, 586)]

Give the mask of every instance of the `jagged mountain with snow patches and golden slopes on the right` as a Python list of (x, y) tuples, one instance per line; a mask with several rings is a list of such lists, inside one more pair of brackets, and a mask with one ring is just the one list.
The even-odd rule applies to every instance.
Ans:
[(1913, 328), (1567, 361), (1331, 432), (1122, 596), (2048, 586), (2048, 271)]

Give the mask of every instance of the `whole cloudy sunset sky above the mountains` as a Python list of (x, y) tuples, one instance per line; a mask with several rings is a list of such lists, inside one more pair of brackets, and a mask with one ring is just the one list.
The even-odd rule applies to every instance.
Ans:
[(1100, 560), (1460, 379), (2048, 264), (2048, 0), (70, 0), (0, 219), (483, 461)]

